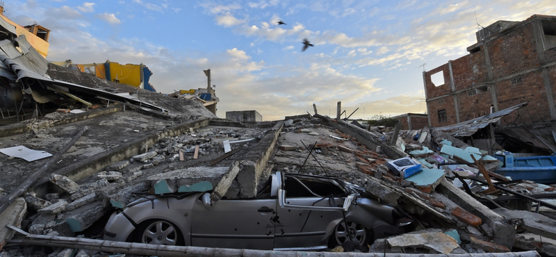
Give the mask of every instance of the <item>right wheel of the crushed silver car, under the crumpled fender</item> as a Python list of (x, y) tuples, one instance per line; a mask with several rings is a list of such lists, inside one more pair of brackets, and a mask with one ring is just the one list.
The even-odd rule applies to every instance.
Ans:
[[(341, 221), (336, 225), (334, 228), (334, 232), (330, 235), (330, 246), (345, 246), (346, 242), (350, 239), (350, 233), (352, 237), (354, 237), (355, 242), (358, 243), (356, 248), (366, 248), (369, 242), (373, 242), (373, 230), (367, 229), (362, 224), (358, 222), (347, 222), (347, 229), (346, 223)], [(348, 233), (350, 231), (350, 233)], [(368, 251), (368, 250), (367, 250)]]

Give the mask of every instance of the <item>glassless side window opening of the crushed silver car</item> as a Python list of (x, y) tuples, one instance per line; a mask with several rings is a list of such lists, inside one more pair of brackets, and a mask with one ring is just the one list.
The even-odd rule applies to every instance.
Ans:
[(332, 179), (303, 176), (285, 176), (284, 190), (286, 197), (327, 197), (331, 194), (337, 197), (347, 196), (343, 188), (332, 183)]

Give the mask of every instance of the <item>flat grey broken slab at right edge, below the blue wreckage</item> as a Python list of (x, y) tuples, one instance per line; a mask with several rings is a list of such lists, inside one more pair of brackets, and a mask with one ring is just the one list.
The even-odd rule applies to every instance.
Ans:
[(496, 208), (493, 210), (504, 217), (519, 219), (518, 227), (526, 231), (556, 240), (556, 221), (539, 213), (527, 210), (508, 210)]

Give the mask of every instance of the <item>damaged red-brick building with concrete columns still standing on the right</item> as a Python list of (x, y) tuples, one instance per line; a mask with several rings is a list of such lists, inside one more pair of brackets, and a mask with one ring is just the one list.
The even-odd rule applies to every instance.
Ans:
[(428, 124), (456, 124), (528, 102), (500, 127), (554, 126), (556, 17), (498, 21), (476, 37), (468, 55), (423, 72)]

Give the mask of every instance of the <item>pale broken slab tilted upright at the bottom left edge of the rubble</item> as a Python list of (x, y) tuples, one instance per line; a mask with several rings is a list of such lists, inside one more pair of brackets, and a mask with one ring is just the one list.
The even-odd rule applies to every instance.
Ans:
[(0, 250), (13, 238), (15, 231), (9, 229), (7, 225), (19, 227), (27, 211), (25, 199), (18, 197), (15, 201), (0, 213)]

